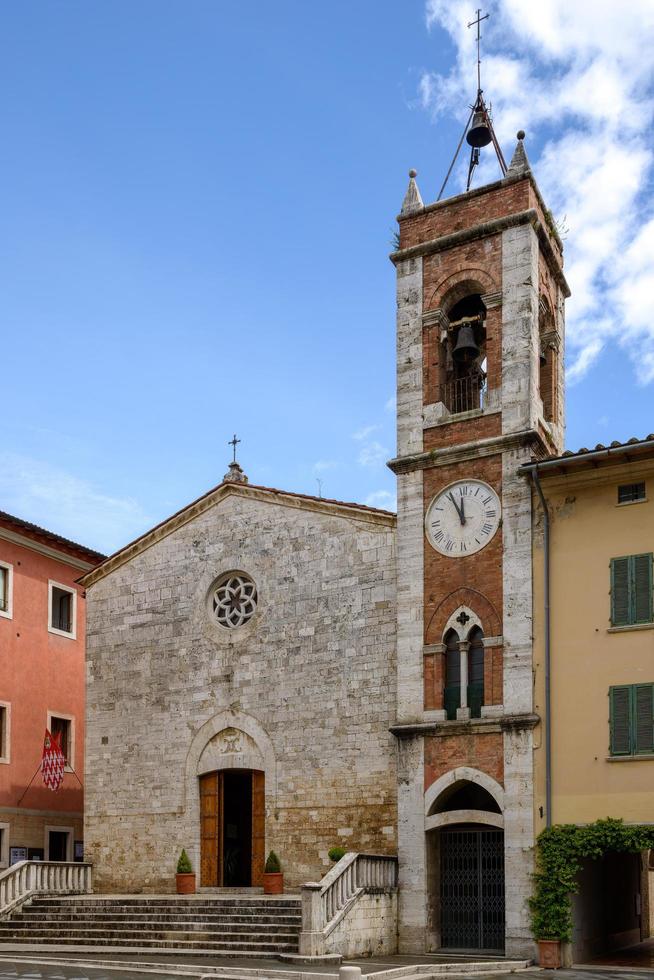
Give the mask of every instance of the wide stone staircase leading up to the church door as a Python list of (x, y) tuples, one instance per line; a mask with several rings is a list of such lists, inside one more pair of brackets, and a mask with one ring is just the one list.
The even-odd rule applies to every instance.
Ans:
[(38, 943), (273, 957), (297, 953), (300, 928), (299, 898), (39, 896), (0, 921), (0, 948)]

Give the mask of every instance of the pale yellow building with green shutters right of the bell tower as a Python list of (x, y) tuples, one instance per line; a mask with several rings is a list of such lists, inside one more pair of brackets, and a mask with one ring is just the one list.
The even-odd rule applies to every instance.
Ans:
[[(654, 436), (522, 472), (537, 522), (535, 831), (654, 825)], [(576, 961), (652, 934), (649, 866), (647, 854), (584, 863)]]

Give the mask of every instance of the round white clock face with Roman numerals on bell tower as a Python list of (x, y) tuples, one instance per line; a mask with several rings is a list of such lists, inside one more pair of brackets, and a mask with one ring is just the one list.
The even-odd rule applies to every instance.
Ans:
[(449, 558), (474, 555), (500, 526), (499, 497), (481, 480), (444, 487), (427, 508), (425, 530), (432, 548)]

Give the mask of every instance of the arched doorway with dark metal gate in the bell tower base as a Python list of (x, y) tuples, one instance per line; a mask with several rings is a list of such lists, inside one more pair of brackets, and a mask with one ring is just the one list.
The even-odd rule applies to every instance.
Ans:
[(503, 952), (503, 823), (497, 800), (469, 779), (451, 781), (432, 803), (425, 821), (430, 948)]

